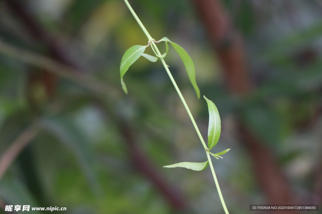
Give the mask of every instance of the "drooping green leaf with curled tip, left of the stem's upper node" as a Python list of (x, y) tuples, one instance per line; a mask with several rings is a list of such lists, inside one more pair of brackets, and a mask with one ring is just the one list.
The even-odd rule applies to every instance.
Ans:
[(128, 68), (133, 64), (137, 59), (143, 54), (147, 46), (135, 45), (130, 47), (122, 57), (120, 65), (120, 74), (121, 74), (121, 84), (125, 93), (128, 93), (128, 90), (125, 86), (124, 81), (122, 80), (124, 74), (128, 71)]

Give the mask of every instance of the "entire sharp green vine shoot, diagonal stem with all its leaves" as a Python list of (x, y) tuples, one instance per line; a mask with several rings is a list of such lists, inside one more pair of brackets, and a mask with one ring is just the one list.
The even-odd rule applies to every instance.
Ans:
[[(143, 32), (145, 33), (145, 35), (147, 36), (148, 39), (148, 44), (146, 46), (141, 46), (141, 45), (135, 45), (133, 47), (130, 47), (124, 54), (124, 56), (122, 57), (121, 60), (121, 64), (120, 64), (120, 75), (121, 75), (121, 84), (122, 84), (122, 88), (125, 91), (125, 93), (128, 93), (128, 89), (123, 81), (123, 76), (124, 74), (128, 71), (128, 68), (140, 57), (143, 56), (146, 59), (150, 60), (151, 62), (156, 62), (158, 60), (161, 61), (161, 63), (163, 64), (164, 68), (166, 69), (166, 72), (168, 74), (168, 76), (170, 77), (171, 82), (173, 83), (175, 90), (177, 91), (183, 105), (185, 106), (185, 109), (191, 119), (192, 124), (194, 125), (194, 128), (200, 138), (201, 143), (204, 146), (204, 150), (206, 152), (206, 156), (207, 156), (207, 161), (203, 162), (203, 163), (192, 163), (192, 162), (182, 162), (182, 163), (177, 163), (177, 164), (173, 164), (173, 165), (169, 165), (169, 166), (164, 166), (167, 168), (174, 168), (174, 167), (184, 167), (187, 169), (192, 169), (195, 171), (201, 171), (204, 170), (205, 168), (208, 167), (208, 165), (210, 166), (212, 175), (213, 175), (213, 179), (215, 181), (216, 187), (217, 187), (217, 191), (220, 197), (220, 201), (223, 205), (223, 209), (225, 211), (225, 214), (229, 214), (225, 201), (223, 200), (223, 195), (221, 193), (219, 184), (218, 184), (218, 180), (215, 174), (215, 171), (213, 169), (213, 163), (211, 161), (210, 155), (212, 155), (213, 157), (219, 159), (222, 158), (221, 156), (223, 154), (225, 154), (226, 152), (228, 152), (230, 149), (224, 150), (222, 152), (213, 154), (210, 152), (210, 150), (217, 144), (218, 140), (219, 140), (219, 136), (220, 136), (220, 132), (221, 132), (221, 122), (220, 122), (220, 116), (217, 110), (217, 107), (215, 106), (215, 104), (213, 104), (213, 102), (209, 99), (207, 99), (204, 96), (204, 99), (207, 101), (208, 104), (208, 110), (209, 110), (209, 126), (208, 126), (208, 147), (206, 145), (206, 143), (204, 142), (203, 137), (201, 136), (201, 133), (198, 129), (198, 126), (196, 124), (196, 122), (194, 121), (194, 117), (192, 116), (190, 109), (187, 105), (187, 103), (185, 102), (184, 97), (181, 94), (181, 91), (179, 90), (164, 58), (168, 53), (168, 43), (170, 43), (172, 45), (172, 47), (176, 50), (176, 52), (179, 54), (179, 56), (181, 57), (186, 71), (188, 73), (189, 79), (194, 87), (194, 90), (197, 94), (197, 97), (200, 98), (200, 90), (197, 86), (196, 80), (195, 80), (195, 69), (194, 69), (194, 63), (191, 59), (191, 57), (187, 54), (187, 52), (180, 47), (179, 45), (177, 45), (176, 43), (170, 41), (170, 39), (164, 37), (158, 41), (156, 41), (155, 39), (153, 39), (151, 37), (151, 35), (148, 33), (147, 29), (144, 27), (144, 25), (142, 24), (142, 22), (139, 20), (139, 18), (137, 17), (137, 14), (134, 12), (134, 10), (132, 9), (131, 5), (128, 3), (127, 0), (124, 0), (125, 4), (128, 6), (128, 9), (130, 10), (130, 12), (132, 13), (132, 15), (134, 16), (134, 18), (136, 19), (137, 23), (140, 25), (141, 29), (143, 30)], [(165, 42), (166, 45), (166, 53), (161, 54), (159, 49), (156, 47), (156, 44), (159, 42)], [(144, 51), (147, 47), (151, 47), (153, 53), (155, 54), (155, 56), (151, 56), (148, 54), (145, 54)]]

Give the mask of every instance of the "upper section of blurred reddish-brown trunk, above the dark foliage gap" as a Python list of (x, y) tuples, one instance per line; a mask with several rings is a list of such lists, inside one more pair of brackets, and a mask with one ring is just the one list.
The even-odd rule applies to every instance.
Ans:
[(223, 66), (227, 88), (234, 94), (247, 94), (251, 81), (247, 72), (242, 38), (218, 0), (194, 0), (208, 37)]

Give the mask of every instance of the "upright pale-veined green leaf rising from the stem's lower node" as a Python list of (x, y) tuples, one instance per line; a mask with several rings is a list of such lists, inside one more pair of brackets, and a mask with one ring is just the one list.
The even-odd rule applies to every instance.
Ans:
[(205, 100), (208, 103), (209, 110), (209, 125), (208, 125), (208, 147), (211, 150), (218, 142), (220, 132), (221, 132), (221, 123), (220, 116), (217, 107), (213, 102), (207, 99), (204, 96)]

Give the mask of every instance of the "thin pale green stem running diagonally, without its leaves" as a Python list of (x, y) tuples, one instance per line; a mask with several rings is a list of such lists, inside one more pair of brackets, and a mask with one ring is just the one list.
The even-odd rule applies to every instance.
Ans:
[[(152, 50), (154, 51), (156, 56), (157, 57), (161, 56), (161, 53), (160, 53), (159, 49), (156, 47), (156, 44), (155, 44), (154, 40), (152, 39), (150, 34), (147, 32), (147, 29), (143, 26), (143, 24), (140, 21), (140, 19), (137, 17), (137, 14), (134, 12), (134, 10), (132, 9), (131, 5), (128, 3), (128, 0), (124, 0), (124, 1), (125, 1), (126, 5), (128, 6), (128, 9), (131, 11), (131, 13), (133, 14), (134, 18), (136, 19), (137, 23), (140, 25), (140, 27), (144, 31), (145, 35), (149, 39), (149, 42), (151, 42)], [(220, 190), (220, 187), (219, 187), (219, 184), (218, 184), (218, 180), (217, 180), (217, 177), (216, 177), (216, 174), (215, 174), (215, 170), (213, 169), (213, 163), (212, 163), (210, 155), (208, 153), (208, 147), (206, 146), (206, 143), (204, 142), (204, 138), (202, 137), (202, 135), (201, 135), (201, 133), (199, 131), (199, 128), (198, 128), (196, 122), (194, 121), (194, 117), (192, 116), (192, 114), (190, 112), (190, 109), (189, 109), (187, 103), (185, 102), (185, 98), (182, 96), (181, 91), (180, 91), (180, 89), (178, 88), (178, 86), (177, 86), (177, 84), (175, 82), (175, 79), (173, 78), (168, 66), (166, 65), (166, 62), (164, 61), (163, 58), (161, 58), (160, 60), (161, 60), (161, 62), (163, 64), (164, 68), (166, 69), (166, 73), (168, 73), (168, 75), (170, 77), (170, 80), (171, 80), (172, 84), (174, 85), (175, 90), (177, 91), (177, 93), (178, 93), (183, 105), (185, 106), (185, 109), (186, 109), (186, 111), (187, 111), (187, 113), (188, 113), (188, 115), (189, 115), (189, 117), (191, 119), (192, 124), (194, 125), (194, 129), (196, 130), (202, 145), (204, 146), (204, 150), (206, 151), (206, 154), (207, 154), (210, 169), (211, 169), (211, 172), (213, 174), (213, 179), (214, 179), (216, 187), (217, 187), (217, 191), (218, 191), (218, 194), (219, 194), (220, 201), (221, 201), (221, 203), (223, 205), (223, 209), (225, 210), (225, 214), (229, 214), (229, 212), (227, 210), (227, 207), (226, 207), (226, 204), (225, 204), (225, 201), (223, 200), (223, 194), (221, 193), (221, 190)]]

